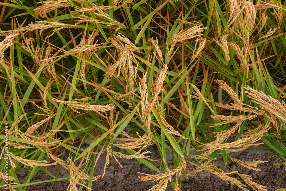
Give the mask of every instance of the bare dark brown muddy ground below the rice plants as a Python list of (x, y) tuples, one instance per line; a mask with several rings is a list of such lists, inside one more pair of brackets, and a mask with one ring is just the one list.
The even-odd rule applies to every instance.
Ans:
[[(234, 156), (234, 155), (232, 155)], [(231, 162), (228, 159), (227, 165), (233, 170), (237, 170), (239, 173), (248, 174), (253, 177), (253, 182), (261, 184), (263, 186), (267, 186), (268, 191), (273, 191), (278, 188), (286, 188), (286, 167), (283, 165), (273, 166), (273, 163), (282, 162), (282, 160), (277, 157), (275, 154), (267, 152), (267, 151), (258, 151), (255, 153), (253, 150), (248, 150), (240, 155), (235, 156), (235, 158), (242, 161), (269, 161), (267, 163), (258, 164), (257, 168), (261, 169), (261, 171), (249, 170), (247, 168), (241, 167), (238, 164)], [(133, 163), (130, 160), (120, 160), (123, 168), (116, 163), (116, 161), (112, 158), (110, 160), (110, 164), (107, 166), (106, 174), (104, 178), (99, 178), (94, 181), (92, 184), (92, 190), (104, 190), (104, 191), (144, 191), (152, 188), (155, 182), (152, 181), (140, 181), (136, 172), (143, 172), (146, 174), (156, 174), (155, 171), (148, 169), (147, 167), (138, 166), (134, 170), (132, 165)], [(225, 172), (231, 172), (226, 166), (224, 166), (221, 162), (216, 160), (213, 162), (215, 166), (221, 168)], [(160, 167), (160, 161), (153, 163), (156, 167)], [(173, 168), (173, 161), (168, 161), (169, 168)], [(103, 174), (104, 168), (104, 160), (100, 160), (97, 164), (94, 174), (100, 175)], [(187, 164), (187, 168), (185, 172), (190, 172), (194, 170), (196, 167)], [(55, 175), (58, 166), (48, 167), (47, 170)], [(165, 172), (164, 168), (161, 170), (162, 173)], [(27, 177), (28, 171), (23, 170), (19, 174), (17, 174), (20, 183), (23, 183)], [(69, 170), (61, 168), (57, 178), (63, 178), (69, 176)], [(234, 178), (242, 181), (235, 174), (231, 175)], [(51, 177), (44, 174), (42, 171), (37, 172), (37, 174), (33, 177), (31, 182), (43, 181), (51, 179)], [(243, 182), (244, 183), (244, 182)], [(50, 190), (52, 183), (42, 183), (35, 184), (27, 187), (27, 191), (45, 191)], [(55, 182), (52, 190), (55, 191), (65, 191), (69, 186), (69, 180)], [(79, 187), (78, 187), (79, 188)], [(182, 178), (182, 190), (186, 191), (212, 191), (212, 190), (241, 190), (235, 185), (227, 184), (224, 180), (221, 180), (217, 176), (210, 174), (207, 171), (201, 171), (196, 173), (194, 176), (189, 176), (189, 179)], [(253, 190), (250, 187), (247, 187), (249, 190)], [(87, 190), (83, 188), (83, 190)], [(167, 191), (173, 190), (171, 184), (168, 184)]]

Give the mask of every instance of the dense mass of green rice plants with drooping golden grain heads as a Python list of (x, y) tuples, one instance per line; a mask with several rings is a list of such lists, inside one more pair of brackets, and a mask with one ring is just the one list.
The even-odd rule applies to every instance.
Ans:
[[(283, 161), (275, 165), (285, 164), (285, 3), (5, 0), (0, 6), (0, 189), (26, 190), (37, 184), (30, 181), (38, 170), (59, 164), (70, 170), (66, 189), (91, 190), (114, 157), (154, 170), (138, 173), (138, 180), (156, 181), (149, 191), (165, 190), (168, 182), (179, 191), (182, 176), (202, 170), (240, 190), (266, 190), (212, 161), (258, 171), (266, 161), (228, 154), (268, 149)], [(86, 149), (73, 146), (86, 140)], [(150, 145), (165, 173), (152, 164)], [(104, 173), (94, 174), (104, 152)], [(187, 164), (198, 168), (186, 172)], [(29, 174), (20, 183), (24, 167)]]

